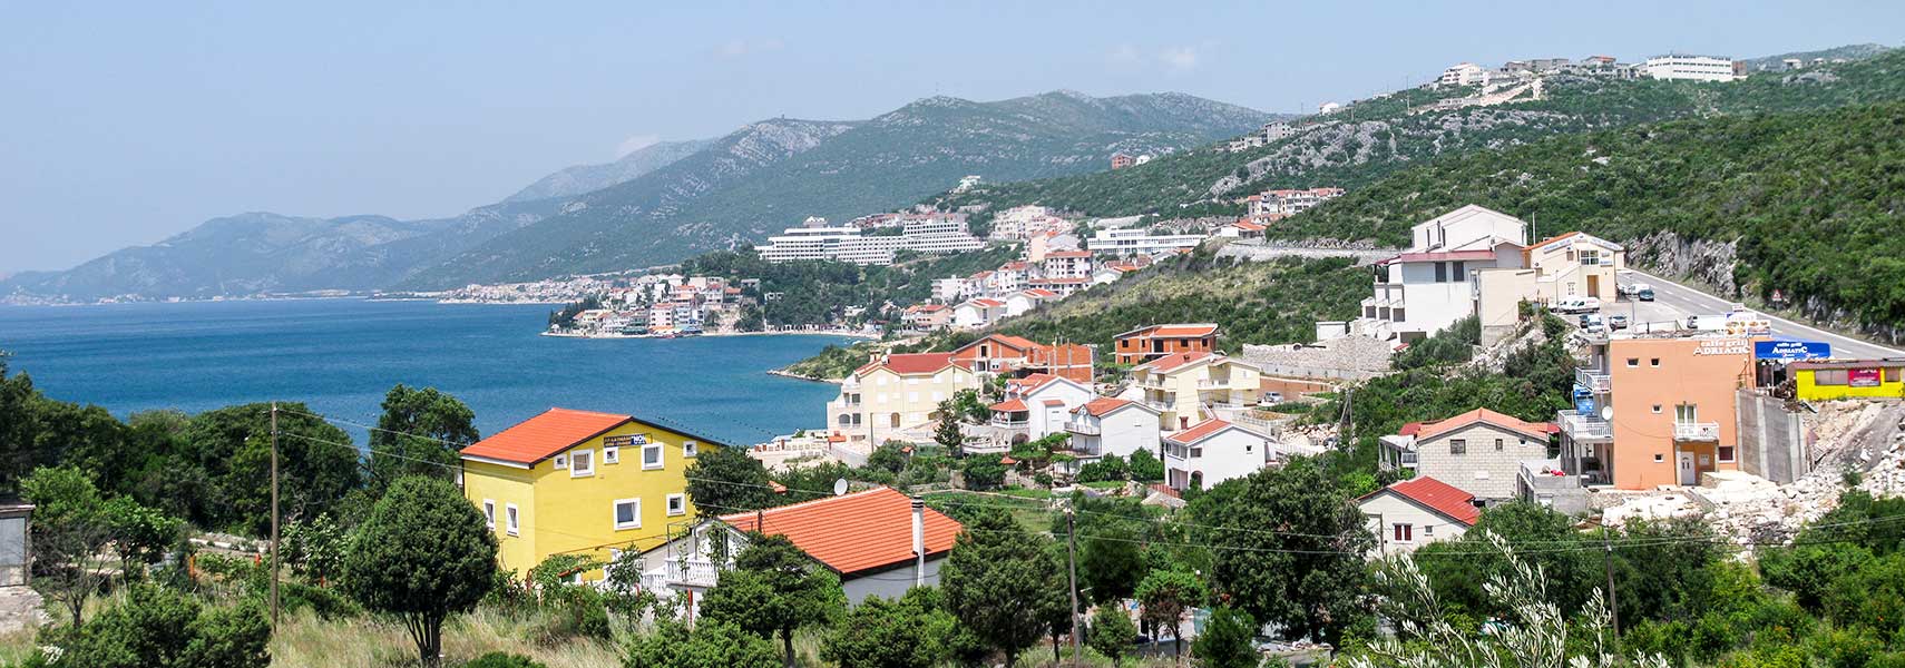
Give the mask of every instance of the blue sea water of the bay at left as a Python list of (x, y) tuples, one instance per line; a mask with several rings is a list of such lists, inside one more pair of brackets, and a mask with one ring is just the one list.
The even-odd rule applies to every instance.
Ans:
[[(0, 350), (51, 398), (126, 417), (305, 402), (375, 424), (396, 383), (434, 386), (493, 434), (552, 405), (632, 413), (733, 445), (815, 428), (831, 384), (766, 375), (836, 337), (556, 339), (551, 306), (227, 301), (0, 306)], [(345, 426), (358, 443), (366, 432)]]

